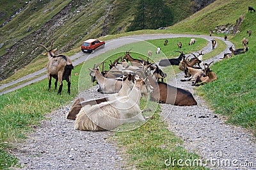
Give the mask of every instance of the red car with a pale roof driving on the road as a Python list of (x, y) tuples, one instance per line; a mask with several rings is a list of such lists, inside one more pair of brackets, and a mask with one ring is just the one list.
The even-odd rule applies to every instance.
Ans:
[(100, 41), (97, 39), (89, 39), (83, 42), (83, 44), (81, 45), (81, 50), (83, 52), (94, 52), (95, 49), (99, 47), (104, 48), (104, 46), (105, 46), (104, 41)]

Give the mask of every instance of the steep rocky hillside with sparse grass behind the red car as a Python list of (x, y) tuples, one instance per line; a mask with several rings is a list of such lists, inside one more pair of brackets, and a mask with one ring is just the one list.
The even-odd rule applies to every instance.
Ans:
[[(185, 19), (212, 1), (161, 1), (173, 15), (173, 21), (167, 26)], [(124, 33), (136, 17), (134, 6), (141, 2), (2, 1), (0, 19), (8, 22), (1, 27), (0, 33), (0, 79), (9, 77), (33, 59), (42, 58), (42, 49), (37, 47), (40, 43), (48, 45), (55, 40), (54, 45), (62, 53), (79, 47), (86, 38)]]

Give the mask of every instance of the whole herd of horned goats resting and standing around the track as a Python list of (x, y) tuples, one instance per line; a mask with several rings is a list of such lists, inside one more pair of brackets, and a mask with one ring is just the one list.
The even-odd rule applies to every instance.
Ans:
[[(250, 35), (252, 32), (250, 32)], [(225, 37), (226, 40), (226, 37)], [(241, 54), (248, 50), (246, 45), (248, 40), (242, 40), (244, 48), (234, 50), (229, 47), (230, 53), (225, 53), (223, 58), (230, 58), (232, 55)], [(195, 44), (195, 38), (191, 38), (189, 45)], [(215, 48), (216, 41), (211, 40), (212, 49)], [(167, 45), (165, 40), (164, 45)], [(47, 51), (44, 53), (48, 57), (47, 73), (49, 79), (49, 91), (51, 90), (51, 79), (56, 79), (54, 85), (57, 88), (58, 81), (60, 87), (58, 94), (61, 94), (63, 83), (68, 82), (68, 93), (70, 93), (70, 77), (74, 66), (68, 56), (56, 56), (56, 49), (47, 49), (44, 45), (41, 47)], [(179, 49), (182, 47), (178, 43)], [(156, 54), (159, 54), (160, 47), (157, 48)], [(141, 97), (150, 98), (150, 100), (163, 104), (172, 104), (179, 106), (197, 105), (193, 95), (186, 89), (177, 88), (163, 82), (166, 73), (161, 70), (161, 66), (178, 65), (179, 69), (184, 72), (184, 77), (180, 81), (192, 81), (192, 86), (200, 86), (207, 82), (217, 79), (216, 73), (212, 72), (209, 66), (212, 64), (203, 62), (203, 50), (197, 52), (198, 55), (190, 52), (193, 57), (185, 56), (184, 52), (180, 53), (178, 58), (161, 59), (159, 63), (150, 63), (143, 58), (132, 58), (130, 52), (120, 56), (115, 61), (109, 63), (109, 70), (104, 70), (104, 63), (98, 63), (90, 68), (92, 82), (97, 81), (99, 84), (99, 93), (110, 94), (106, 97), (93, 100), (85, 100), (79, 97), (75, 100), (67, 114), (67, 119), (75, 120), (74, 128), (76, 130), (113, 130), (116, 127), (135, 121), (145, 121), (140, 109)], [(152, 52), (148, 51), (148, 56)], [(102, 65), (100, 71), (100, 65)]]

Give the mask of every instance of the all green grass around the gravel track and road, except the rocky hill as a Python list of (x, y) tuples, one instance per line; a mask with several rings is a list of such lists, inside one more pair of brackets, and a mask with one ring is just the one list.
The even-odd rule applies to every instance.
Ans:
[[(228, 35), (228, 38), (237, 48), (241, 48), (241, 39), (243, 37), (248, 37), (246, 31), (251, 29), (253, 35), (248, 38), (249, 51), (246, 52), (246, 54), (234, 56), (234, 58), (221, 61), (211, 66), (212, 70), (216, 72), (218, 76), (217, 81), (205, 84), (196, 90), (199, 95), (207, 100), (209, 106), (212, 107), (216, 113), (227, 116), (228, 123), (246, 127), (249, 130), (252, 130), (253, 134), (255, 134), (256, 39), (254, 33), (256, 33), (256, 18), (254, 13), (246, 13), (248, 6), (246, 3), (256, 6), (255, 1), (215, 1), (204, 10), (179, 22), (179, 24), (170, 27), (168, 30), (135, 31), (132, 33), (124, 33), (122, 35), (108, 36), (106, 39), (145, 33), (183, 32), (208, 35), (209, 29), (221, 24), (235, 23), (236, 19), (241, 14), (244, 14), (244, 22), (240, 27), (241, 32), (237, 33), (234, 37)], [(161, 41), (162, 40), (159, 40), (159, 42), (158, 40), (156, 40), (156, 42), (153, 41), (152, 43), (155, 45), (151, 45), (150, 47), (158, 46), (162, 43)], [(175, 48), (177, 47), (176, 43), (177, 42), (173, 42)], [(204, 40), (202, 40), (201, 43), (196, 43), (196, 45), (204, 46), (203, 44)], [(225, 49), (223, 43), (218, 41), (218, 44), (218, 48), (221, 50), (222, 48)], [(127, 45), (119, 50), (106, 53), (106, 56), (104, 57), (113, 58), (113, 54), (119, 56), (122, 52), (118, 52), (125, 52), (129, 47), (131, 46)], [(185, 48), (187, 47), (184, 47), (184, 49)], [(220, 53), (221, 50), (218, 48), (213, 50), (211, 54), (205, 54), (204, 57), (211, 58), (211, 56)], [(198, 49), (200, 49), (199, 46)], [(137, 49), (136, 47), (132, 47), (132, 55), (147, 56), (147, 50), (140, 50), (138, 46)], [(186, 52), (193, 50), (196, 49), (186, 49)], [(175, 49), (169, 50), (164, 49), (163, 47), (163, 51), (166, 52), (166, 56), (168, 57), (178, 56)], [(164, 57), (164, 55), (156, 56), (154, 60), (157, 61), (157, 59)], [(95, 58), (93, 59), (93, 62), (86, 61), (84, 66), (76, 66), (74, 72), (80, 72), (80, 69), (82, 69), (81, 73), (88, 75), (88, 68), (92, 66), (90, 62), (99, 63), (100, 61), (102, 61), (102, 58)], [(170, 72), (173, 72), (173, 70), (177, 68), (170, 67), (166, 69), (168, 70), (169, 75)], [(167, 71), (165, 70), (165, 72)], [(86, 77), (84, 77), (84, 79), (86, 79)], [(47, 91), (47, 80), (36, 82), (25, 88), (0, 96), (0, 169), (6, 169), (16, 164), (17, 159), (8, 153), (8, 148), (12, 148), (13, 142), (24, 140), (27, 133), (33, 130), (31, 127), (38, 125), (38, 122), (44, 119), (44, 114), (51, 112), (54, 109), (58, 109), (61, 105), (66, 104), (76, 97), (79, 89), (79, 81), (81, 81), (80, 83), (83, 83), (83, 77), (78, 79), (78, 77), (72, 76), (71, 95), (67, 95), (67, 84), (64, 84), (61, 97), (56, 95), (57, 91), (55, 90), (51, 92)], [(88, 81), (86, 81), (86, 84), (84, 83), (82, 85), (82, 89), (92, 86)], [(166, 125), (160, 121), (158, 114), (154, 114), (151, 120), (147, 121), (145, 125), (136, 130), (115, 134), (115, 139), (120, 144), (120, 149), (124, 150), (125, 155), (127, 154), (127, 157), (129, 158), (128, 164), (130, 166), (134, 165), (134, 167), (137, 167), (138, 169), (158, 169), (158, 167), (161, 167), (162, 169), (170, 168), (165, 167), (163, 162), (169, 157), (184, 159), (198, 157), (196, 155), (191, 155), (180, 147), (180, 145), (182, 145), (180, 139), (166, 129)], [(140, 139), (142, 139), (142, 141)], [(172, 168), (182, 169), (182, 167), (179, 166)], [(188, 167), (183, 167), (183, 169), (187, 168)], [(196, 168), (200, 169), (200, 167), (191, 167), (191, 169)]]

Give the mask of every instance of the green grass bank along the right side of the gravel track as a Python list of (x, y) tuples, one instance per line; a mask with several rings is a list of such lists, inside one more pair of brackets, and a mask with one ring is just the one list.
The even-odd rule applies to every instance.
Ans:
[(228, 122), (241, 125), (256, 134), (256, 39), (246, 30), (256, 33), (254, 13), (246, 13), (241, 33), (231, 41), (236, 49), (243, 48), (241, 40), (248, 38), (248, 52), (233, 56), (212, 66), (218, 80), (198, 89), (216, 113), (227, 116)]

